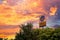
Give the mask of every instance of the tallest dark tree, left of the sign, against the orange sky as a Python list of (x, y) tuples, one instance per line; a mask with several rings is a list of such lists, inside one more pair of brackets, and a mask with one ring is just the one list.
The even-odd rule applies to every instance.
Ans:
[(22, 30), (17, 33), (15, 40), (32, 40), (32, 27), (33, 25), (31, 23), (27, 23), (27, 25), (20, 26)]

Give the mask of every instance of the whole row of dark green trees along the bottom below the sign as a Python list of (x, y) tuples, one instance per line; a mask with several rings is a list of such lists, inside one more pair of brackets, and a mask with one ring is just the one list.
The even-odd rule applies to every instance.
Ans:
[(15, 40), (60, 40), (60, 28), (33, 29), (32, 27), (31, 23), (21, 25)]

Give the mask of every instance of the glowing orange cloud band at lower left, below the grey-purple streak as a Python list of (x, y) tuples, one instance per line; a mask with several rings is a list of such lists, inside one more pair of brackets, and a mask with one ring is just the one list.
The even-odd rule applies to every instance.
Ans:
[(16, 33), (19, 31), (19, 28), (13, 28), (13, 29), (0, 29), (0, 38), (9, 38), (11, 36), (16, 35)]

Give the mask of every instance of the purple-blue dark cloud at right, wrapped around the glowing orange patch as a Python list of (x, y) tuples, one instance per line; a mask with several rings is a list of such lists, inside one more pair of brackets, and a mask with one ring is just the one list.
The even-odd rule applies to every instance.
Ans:
[(48, 11), (48, 13), (50, 13), (51, 7), (57, 7), (56, 15), (49, 17), (47, 20), (47, 25), (60, 25), (60, 0), (45, 0), (43, 3), (44, 10)]

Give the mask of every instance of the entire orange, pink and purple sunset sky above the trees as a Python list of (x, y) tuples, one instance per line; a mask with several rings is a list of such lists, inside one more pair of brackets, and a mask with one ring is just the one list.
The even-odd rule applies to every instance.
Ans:
[(0, 0), (0, 37), (14, 37), (21, 24), (39, 26), (39, 17), (47, 26), (60, 25), (60, 0)]

